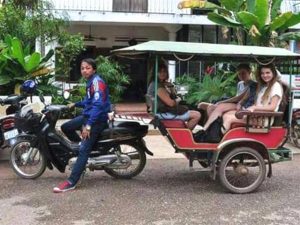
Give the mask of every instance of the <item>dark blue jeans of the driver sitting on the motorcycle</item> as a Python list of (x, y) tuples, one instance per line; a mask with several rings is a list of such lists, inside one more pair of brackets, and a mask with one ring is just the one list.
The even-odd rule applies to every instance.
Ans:
[[(74, 118), (73, 120), (70, 120), (69, 122), (62, 125), (62, 129), (65, 129), (67, 133), (67, 137), (72, 141), (81, 141), (80, 149), (78, 153), (78, 157), (76, 160), (76, 163), (74, 164), (74, 167), (72, 169), (72, 173), (70, 177), (68, 178), (68, 181), (70, 181), (72, 184), (76, 184), (78, 180), (80, 179), (80, 176), (85, 169), (85, 165), (87, 163), (89, 154), (96, 143), (99, 135), (101, 132), (108, 127), (108, 124), (106, 122), (98, 122), (92, 125), (91, 132), (90, 132), (90, 138), (86, 140), (81, 140), (80, 137), (77, 135), (75, 130), (71, 130), (70, 128), (79, 128), (81, 129), (82, 125), (85, 123), (86, 118), (83, 116), (78, 116)], [(64, 128), (63, 128), (64, 127)], [(77, 139), (78, 138), (78, 139)]]

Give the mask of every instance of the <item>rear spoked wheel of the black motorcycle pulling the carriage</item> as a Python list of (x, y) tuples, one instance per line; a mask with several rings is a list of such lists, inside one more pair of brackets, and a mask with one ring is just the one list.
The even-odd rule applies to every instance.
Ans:
[(115, 178), (130, 179), (142, 172), (146, 164), (146, 154), (138, 145), (118, 145), (115, 151), (117, 154), (127, 155), (131, 163), (126, 168), (105, 168), (104, 171), (107, 174)]

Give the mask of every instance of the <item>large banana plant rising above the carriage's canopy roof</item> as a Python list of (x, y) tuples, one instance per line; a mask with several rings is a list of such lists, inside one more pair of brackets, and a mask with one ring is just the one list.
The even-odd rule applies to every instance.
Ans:
[[(238, 32), (244, 30), (254, 45), (275, 46), (283, 40), (281, 35), (289, 27), (300, 23), (300, 13), (280, 12), (282, 1), (220, 0), (221, 7), (214, 7), (214, 12), (208, 13), (208, 19)], [(284, 38), (293, 38), (293, 35)]]

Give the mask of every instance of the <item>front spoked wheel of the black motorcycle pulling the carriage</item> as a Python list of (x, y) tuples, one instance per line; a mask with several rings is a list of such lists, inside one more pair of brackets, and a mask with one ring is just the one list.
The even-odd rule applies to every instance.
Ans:
[(11, 150), (10, 164), (15, 173), (26, 179), (41, 176), (46, 169), (46, 159), (37, 148), (32, 148), (26, 140), (18, 141)]

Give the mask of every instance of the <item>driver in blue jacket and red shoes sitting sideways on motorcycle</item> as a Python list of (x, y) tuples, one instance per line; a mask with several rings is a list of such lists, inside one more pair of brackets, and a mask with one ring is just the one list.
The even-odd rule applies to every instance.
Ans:
[[(82, 115), (64, 123), (61, 127), (64, 134), (74, 142), (80, 142), (80, 149), (71, 175), (63, 183), (54, 187), (54, 193), (61, 193), (75, 189), (82, 172), (85, 169), (88, 156), (100, 133), (108, 127), (108, 112), (111, 110), (108, 87), (96, 73), (96, 63), (87, 58), (81, 61), (81, 75), (87, 80), (86, 96), (83, 101), (71, 103), (72, 107), (82, 107)], [(76, 130), (81, 131), (81, 137)]]

